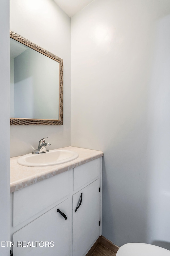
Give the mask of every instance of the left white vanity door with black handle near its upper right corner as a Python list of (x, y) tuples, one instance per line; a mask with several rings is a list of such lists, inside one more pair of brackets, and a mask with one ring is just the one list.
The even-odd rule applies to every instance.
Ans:
[[(14, 256), (69, 255), (69, 221), (71, 221), (71, 216), (67, 216), (65, 219), (57, 212), (57, 209), (60, 209), (67, 216), (70, 213), (68, 199), (13, 234)], [(17, 242), (19, 243), (18, 246)], [(52, 245), (54, 246), (52, 247)]]

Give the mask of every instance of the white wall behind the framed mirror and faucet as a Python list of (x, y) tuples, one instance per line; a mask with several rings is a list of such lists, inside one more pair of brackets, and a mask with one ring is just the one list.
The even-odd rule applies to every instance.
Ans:
[(10, 29), (64, 60), (63, 125), (11, 125), (11, 157), (44, 137), (50, 149), (70, 146), (70, 18), (53, 0), (11, 0)]

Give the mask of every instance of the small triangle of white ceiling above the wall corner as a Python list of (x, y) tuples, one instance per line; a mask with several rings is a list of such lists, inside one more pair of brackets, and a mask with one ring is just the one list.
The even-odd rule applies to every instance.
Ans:
[(94, 0), (54, 0), (69, 17), (73, 17), (74, 14), (93, 1)]

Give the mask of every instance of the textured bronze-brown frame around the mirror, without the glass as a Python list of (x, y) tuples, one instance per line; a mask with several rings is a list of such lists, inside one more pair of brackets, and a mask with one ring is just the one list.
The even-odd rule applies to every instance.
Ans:
[(63, 124), (63, 59), (57, 57), (53, 53), (43, 49), (28, 39), (20, 36), (14, 31), (10, 30), (10, 38), (23, 43), (24, 45), (46, 55), (47, 57), (59, 62), (59, 119), (30, 119), (30, 118), (10, 118), (11, 125), (62, 125)]

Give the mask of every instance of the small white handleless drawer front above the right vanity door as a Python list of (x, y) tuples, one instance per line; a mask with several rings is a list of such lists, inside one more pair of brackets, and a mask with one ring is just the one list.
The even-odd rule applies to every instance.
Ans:
[(74, 190), (97, 178), (100, 173), (100, 158), (74, 168)]

